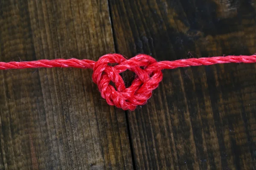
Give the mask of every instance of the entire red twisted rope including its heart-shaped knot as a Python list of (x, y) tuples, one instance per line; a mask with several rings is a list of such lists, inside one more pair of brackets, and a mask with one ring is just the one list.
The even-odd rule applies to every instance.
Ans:
[[(120, 54), (106, 54), (97, 62), (88, 59), (41, 59), (28, 62), (0, 62), (0, 70), (23, 68), (91, 68), (93, 82), (109, 105), (115, 105), (123, 110), (133, 111), (137, 105), (144, 105), (151, 97), (152, 91), (158, 87), (163, 79), (163, 69), (179, 67), (214, 65), (224, 63), (254, 63), (256, 55), (227, 56), (209, 58), (179, 59), (175, 61), (157, 62), (153, 57), (139, 54), (131, 59), (125, 59)], [(109, 64), (117, 64), (111, 66)], [(133, 71), (137, 76), (131, 86), (126, 88), (120, 73), (125, 70)], [(113, 82), (114, 88), (110, 85)]]

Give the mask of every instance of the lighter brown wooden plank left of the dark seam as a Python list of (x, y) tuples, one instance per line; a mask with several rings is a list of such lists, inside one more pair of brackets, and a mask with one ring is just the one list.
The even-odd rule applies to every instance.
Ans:
[[(114, 52), (108, 1), (0, 1), (0, 61)], [(132, 169), (124, 111), (81, 69), (0, 71), (0, 169)]]

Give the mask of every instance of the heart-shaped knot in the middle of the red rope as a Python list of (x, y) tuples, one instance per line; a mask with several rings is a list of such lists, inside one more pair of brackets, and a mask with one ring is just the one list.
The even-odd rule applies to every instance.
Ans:
[[(133, 111), (137, 105), (144, 105), (152, 96), (152, 91), (163, 79), (162, 71), (150, 69), (157, 62), (153, 57), (139, 54), (125, 59), (120, 54), (107, 54), (99, 58), (93, 66), (93, 82), (98, 85), (101, 96), (109, 105)], [(112, 66), (114, 65), (114, 66)], [(131, 85), (126, 88), (120, 73), (126, 70), (136, 74)], [(113, 82), (116, 88), (110, 83)]]

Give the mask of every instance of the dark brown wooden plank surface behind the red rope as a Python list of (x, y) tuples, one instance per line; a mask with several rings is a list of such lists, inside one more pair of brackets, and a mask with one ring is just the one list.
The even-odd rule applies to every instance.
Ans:
[[(114, 52), (254, 54), (256, 1), (0, 0), (0, 61)], [(255, 64), (164, 70), (133, 112), (108, 106), (91, 74), (0, 71), (0, 170), (256, 169)]]

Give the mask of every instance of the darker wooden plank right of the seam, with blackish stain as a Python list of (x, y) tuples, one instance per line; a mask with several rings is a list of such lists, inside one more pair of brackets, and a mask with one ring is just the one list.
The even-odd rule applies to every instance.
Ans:
[[(254, 54), (256, 7), (246, 2), (110, 0), (117, 52), (158, 60)], [(255, 66), (163, 71), (148, 103), (128, 113), (136, 168), (255, 169)]]

